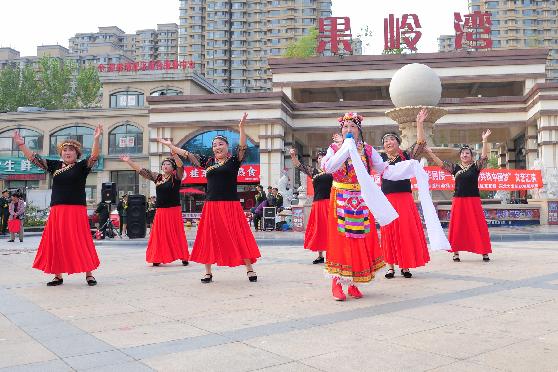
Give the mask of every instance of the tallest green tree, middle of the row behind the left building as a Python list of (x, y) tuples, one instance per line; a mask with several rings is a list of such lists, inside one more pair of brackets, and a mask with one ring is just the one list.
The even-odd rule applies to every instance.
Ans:
[(40, 107), (47, 110), (72, 109), (78, 104), (70, 87), (75, 83), (78, 65), (68, 59), (63, 63), (50, 55), (42, 55), (39, 66)]

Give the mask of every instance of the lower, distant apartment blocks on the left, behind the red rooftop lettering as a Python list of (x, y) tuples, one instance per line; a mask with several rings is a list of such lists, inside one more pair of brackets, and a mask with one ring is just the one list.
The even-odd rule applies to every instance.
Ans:
[(157, 30), (136, 33), (116, 26), (99, 27), (99, 32), (76, 33), (69, 39), (69, 56), (85, 55), (80, 59), (91, 64), (176, 60), (177, 48), (176, 23), (159, 23)]

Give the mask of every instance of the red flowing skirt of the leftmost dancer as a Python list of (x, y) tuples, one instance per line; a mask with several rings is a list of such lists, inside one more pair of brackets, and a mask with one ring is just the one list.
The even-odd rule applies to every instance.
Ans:
[(87, 207), (59, 204), (50, 208), (33, 268), (47, 274), (76, 274), (99, 267)]

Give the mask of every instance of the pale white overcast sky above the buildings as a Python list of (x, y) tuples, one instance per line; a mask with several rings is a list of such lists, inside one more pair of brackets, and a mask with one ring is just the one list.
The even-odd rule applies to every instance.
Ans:
[[(416, 13), (421, 23), (419, 52), (435, 52), (436, 38), (453, 33), (453, 13), (467, 12), (467, 0), (333, 0), (333, 16), (348, 16), (352, 33), (369, 26), (373, 37), (367, 54), (379, 54), (384, 45), (383, 18), (392, 13)], [(0, 44), (35, 56), (37, 45), (60, 44), (78, 32), (97, 32), (98, 27), (118, 26), (127, 33), (157, 28), (157, 23), (178, 23), (178, 0), (158, 1), (3, 1)]]

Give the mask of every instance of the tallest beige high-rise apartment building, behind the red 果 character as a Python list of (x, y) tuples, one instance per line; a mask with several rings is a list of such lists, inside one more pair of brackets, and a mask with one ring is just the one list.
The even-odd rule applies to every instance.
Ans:
[[(179, 60), (194, 61), (196, 70), (232, 93), (271, 90), (267, 59), (280, 57), (309, 27), (318, 27), (318, 18), (331, 17), (331, 0), (181, 0), (179, 5)], [(352, 44), (362, 54), (360, 41)]]

